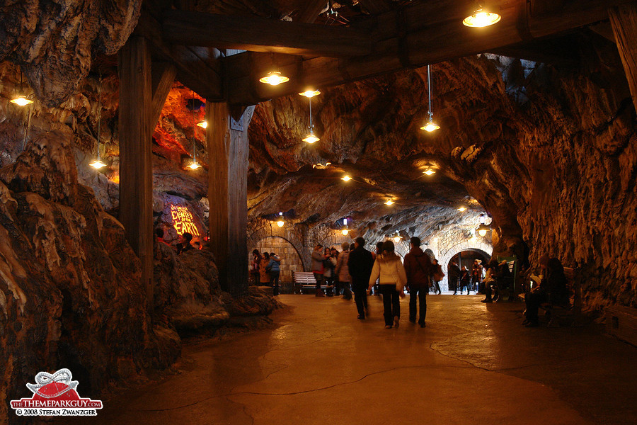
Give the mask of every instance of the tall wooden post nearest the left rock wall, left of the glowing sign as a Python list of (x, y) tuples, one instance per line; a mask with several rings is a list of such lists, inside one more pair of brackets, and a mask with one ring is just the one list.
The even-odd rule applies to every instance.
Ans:
[(151, 57), (132, 36), (117, 55), (120, 77), (120, 222), (142, 263), (148, 310), (153, 309), (153, 171)]

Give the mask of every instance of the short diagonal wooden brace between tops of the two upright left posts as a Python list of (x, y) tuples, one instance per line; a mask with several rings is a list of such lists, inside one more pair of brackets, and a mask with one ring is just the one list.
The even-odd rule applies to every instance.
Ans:
[(176, 78), (199, 96), (210, 101), (223, 99), (219, 52), (207, 48), (170, 45), (164, 42), (161, 25), (148, 11), (142, 11), (134, 34), (150, 42), (150, 48), (159, 60), (171, 62), (177, 69)]

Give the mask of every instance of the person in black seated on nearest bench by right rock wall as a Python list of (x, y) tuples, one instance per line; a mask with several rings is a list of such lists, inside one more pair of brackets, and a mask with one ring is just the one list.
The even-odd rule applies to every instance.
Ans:
[(558, 259), (549, 259), (546, 278), (541, 280), (538, 286), (534, 286), (524, 296), (527, 311), (526, 319), (522, 324), (526, 327), (539, 326), (537, 312), (540, 305), (549, 303), (553, 306), (568, 305), (568, 289), (566, 288), (566, 276), (564, 266)]

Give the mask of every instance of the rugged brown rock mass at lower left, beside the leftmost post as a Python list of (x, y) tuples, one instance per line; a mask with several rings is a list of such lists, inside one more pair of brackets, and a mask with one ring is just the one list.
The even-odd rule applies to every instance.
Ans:
[(0, 417), (40, 370), (70, 368), (96, 397), (180, 353), (151, 322), (122, 225), (77, 183), (69, 140), (62, 125), (34, 131), (0, 169)]

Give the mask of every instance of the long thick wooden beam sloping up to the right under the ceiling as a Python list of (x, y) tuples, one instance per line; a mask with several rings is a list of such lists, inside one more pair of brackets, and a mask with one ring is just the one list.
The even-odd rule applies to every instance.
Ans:
[[(609, 1), (621, 3), (621, 0)], [(499, 10), (503, 16), (500, 23), (480, 29), (463, 26), (462, 11), (450, 10), (444, 2), (418, 2), (360, 24), (372, 30), (373, 38), (379, 40), (375, 55), (348, 59), (277, 56), (277, 64), (282, 64), (280, 68), (291, 79), (280, 86), (254, 83), (271, 66), (271, 57), (256, 52), (226, 57), (224, 69), (229, 88), (226, 98), (231, 104), (251, 105), (297, 93), (306, 86), (337, 86), (500, 47), (523, 45), (607, 18), (609, 1), (585, 0), (576, 5), (582, 6), (577, 11), (564, 7), (541, 16), (529, 16), (523, 1), (510, 2)], [(383, 22), (386, 24), (381, 25)]]

